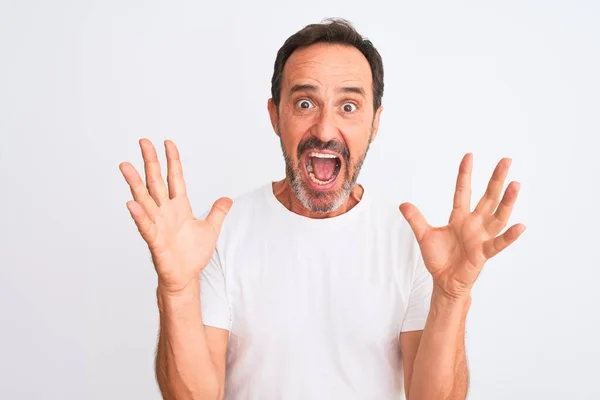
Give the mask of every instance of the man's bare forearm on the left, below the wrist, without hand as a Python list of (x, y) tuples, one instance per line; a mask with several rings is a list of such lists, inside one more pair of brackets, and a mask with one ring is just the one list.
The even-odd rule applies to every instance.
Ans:
[(166, 400), (215, 400), (219, 395), (202, 321), (200, 289), (193, 286), (177, 296), (157, 290), (160, 337), (156, 379)]

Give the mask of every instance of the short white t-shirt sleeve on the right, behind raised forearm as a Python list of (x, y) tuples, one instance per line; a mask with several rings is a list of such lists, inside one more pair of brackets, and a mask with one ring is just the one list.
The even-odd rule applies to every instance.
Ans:
[(410, 292), (408, 307), (402, 322), (401, 332), (420, 331), (425, 328), (425, 322), (429, 315), (429, 307), (431, 304), (431, 294), (433, 291), (433, 278), (425, 267), (421, 252), (416, 250), (415, 258), (417, 266), (415, 271), (415, 279)]

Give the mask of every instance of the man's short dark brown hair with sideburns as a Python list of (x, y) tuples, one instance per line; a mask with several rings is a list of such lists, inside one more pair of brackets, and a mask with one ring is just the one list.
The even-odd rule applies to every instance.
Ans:
[(363, 38), (352, 24), (344, 19), (328, 19), (320, 24), (307, 25), (290, 36), (281, 46), (275, 58), (273, 78), (271, 78), (271, 97), (275, 106), (279, 108), (283, 67), (287, 59), (297, 49), (317, 43), (353, 46), (365, 56), (371, 66), (373, 109), (377, 111), (383, 97), (383, 61), (381, 55), (370, 40)]

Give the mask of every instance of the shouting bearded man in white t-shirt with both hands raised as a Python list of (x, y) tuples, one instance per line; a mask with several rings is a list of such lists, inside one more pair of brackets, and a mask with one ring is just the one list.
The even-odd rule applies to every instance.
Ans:
[(382, 95), (370, 41), (345, 21), (309, 25), (279, 50), (268, 102), (284, 180), (195, 219), (171, 141), (167, 185), (148, 140), (146, 185), (121, 164), (158, 273), (165, 399), (466, 397), (470, 291), (525, 229), (499, 235), (519, 185), (500, 200), (501, 160), (471, 211), (467, 154), (447, 226), (376, 198), (356, 181)]

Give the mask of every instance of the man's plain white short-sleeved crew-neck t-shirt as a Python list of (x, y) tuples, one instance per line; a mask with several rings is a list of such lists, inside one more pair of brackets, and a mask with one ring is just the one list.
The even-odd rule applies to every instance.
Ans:
[(225, 400), (404, 398), (399, 334), (421, 330), (432, 279), (398, 205), (292, 213), (269, 183), (234, 200), (203, 270), (202, 315), (227, 329)]

